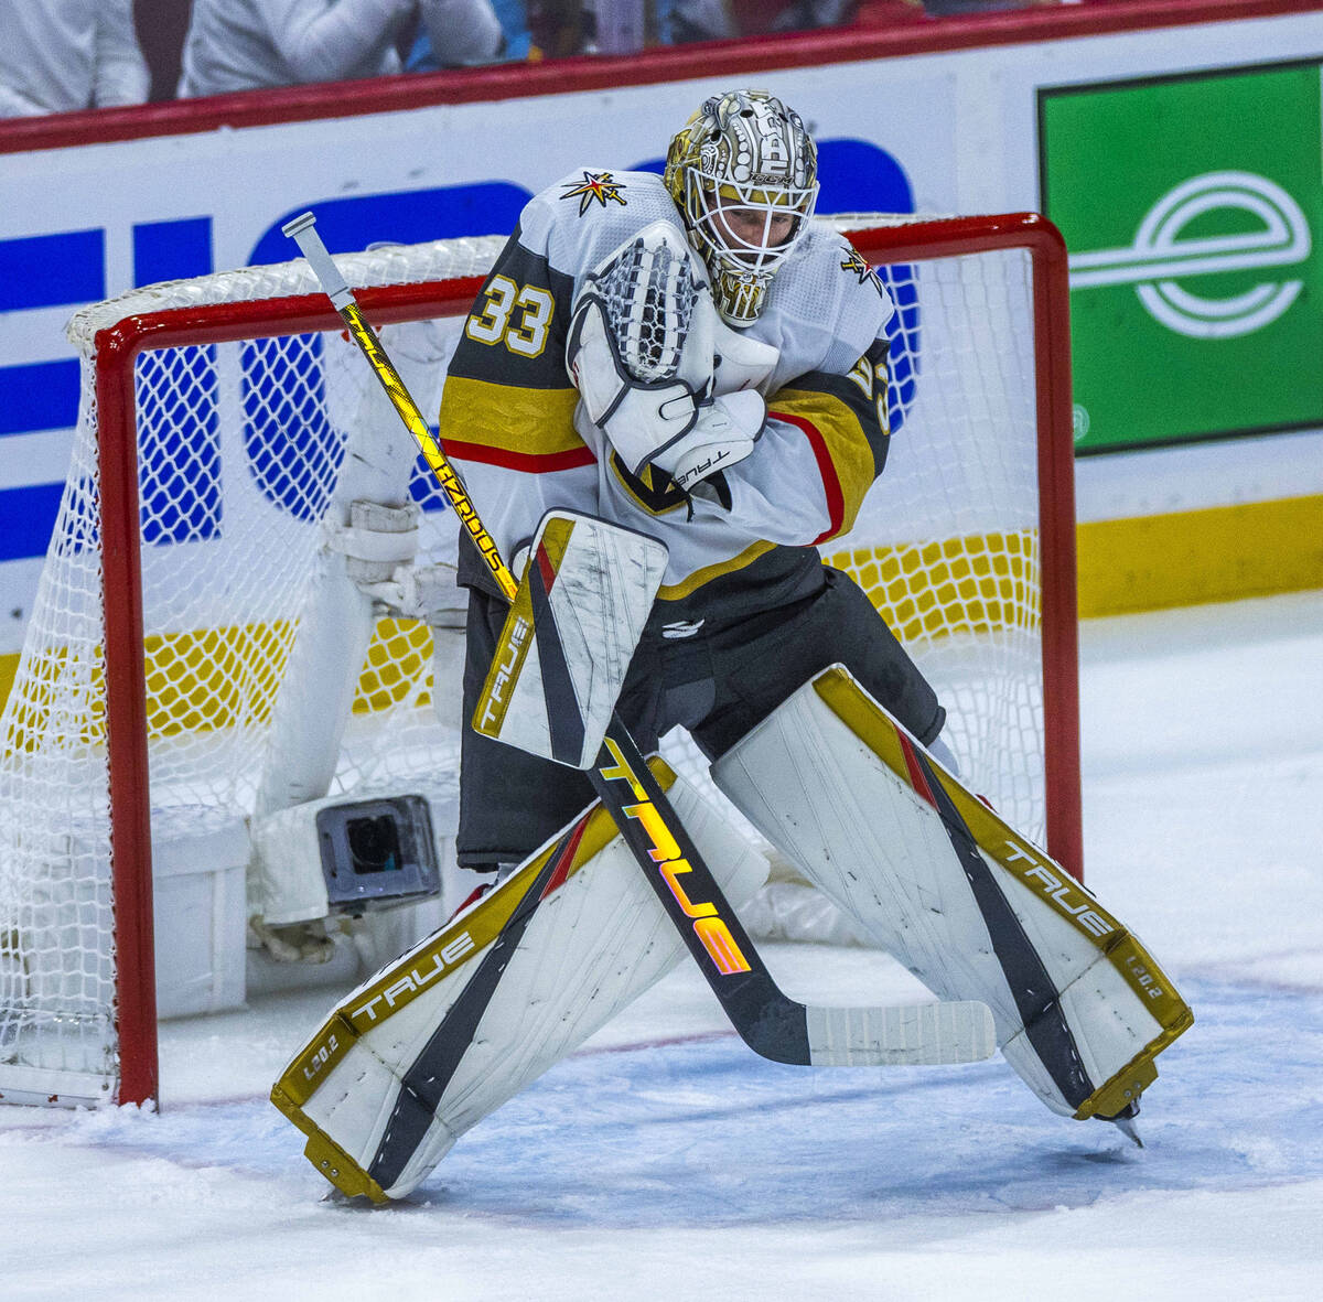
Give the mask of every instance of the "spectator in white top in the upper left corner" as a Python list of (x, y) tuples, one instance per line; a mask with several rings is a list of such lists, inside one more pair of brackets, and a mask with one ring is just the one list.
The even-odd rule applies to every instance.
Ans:
[(132, 0), (0, 0), (0, 118), (140, 105)]

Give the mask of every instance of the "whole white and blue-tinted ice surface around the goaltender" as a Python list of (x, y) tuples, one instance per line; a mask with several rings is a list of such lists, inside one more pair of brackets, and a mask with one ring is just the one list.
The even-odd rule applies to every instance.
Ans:
[[(333, 998), (164, 1027), (163, 1109), (0, 1109), (0, 1297), (1323, 1297), (1323, 593), (1086, 623), (1090, 885), (1196, 1025), (1147, 1147), (998, 1059), (778, 1066), (685, 966), (359, 1211), (267, 1102)], [(861, 950), (769, 946), (798, 998), (897, 1002)]]

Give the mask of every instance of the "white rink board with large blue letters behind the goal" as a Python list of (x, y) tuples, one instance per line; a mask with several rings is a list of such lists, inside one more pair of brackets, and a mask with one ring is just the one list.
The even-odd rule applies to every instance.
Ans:
[[(921, 193), (951, 208), (950, 79), (916, 69), (904, 102), (884, 112), (865, 70), (849, 77), (841, 103), (820, 73), (765, 78), (816, 110), (822, 210), (913, 212)], [(558, 179), (660, 171), (671, 131), (718, 89), (433, 106), (0, 156), (0, 654), (21, 644), (67, 468), (79, 377), (64, 327), (77, 307), (290, 261), (298, 250), (280, 226), (307, 209), (333, 253), (508, 234), (527, 200)], [(902, 144), (921, 135), (922, 151)]]

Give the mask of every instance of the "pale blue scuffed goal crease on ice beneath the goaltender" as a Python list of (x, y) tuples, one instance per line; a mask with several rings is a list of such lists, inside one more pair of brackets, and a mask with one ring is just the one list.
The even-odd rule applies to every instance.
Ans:
[[(1323, 1176), (1323, 995), (1207, 983), (1191, 994), (1200, 1020), (1146, 1094), (1143, 1151), (1111, 1127), (1053, 1117), (999, 1059), (841, 1073), (781, 1066), (733, 1036), (704, 1035), (561, 1063), (381, 1215), (712, 1229), (1052, 1211)], [(81, 1152), (90, 1179), (101, 1164), (164, 1163), (257, 1217), (355, 1212), (320, 1203), (300, 1137), (259, 1100), (41, 1114), (0, 1129), (7, 1166), (40, 1164), (52, 1147)]]

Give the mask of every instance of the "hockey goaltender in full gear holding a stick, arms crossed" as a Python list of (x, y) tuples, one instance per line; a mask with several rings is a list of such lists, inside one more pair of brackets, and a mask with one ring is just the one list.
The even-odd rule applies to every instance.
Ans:
[[(737, 90), (693, 114), (662, 177), (581, 168), (537, 195), (464, 323), (445, 453), (312, 218), (287, 228), (478, 544), (458, 853), (486, 889), (273, 1090), (345, 1195), (406, 1196), (685, 950), (769, 1057), (995, 1047), (1052, 1111), (1131, 1134), (1191, 1024), (1139, 941), (960, 785), (933, 689), (820, 561), (886, 460), (894, 306), (814, 222), (816, 172), (799, 116)], [(937, 1002), (781, 994), (733, 912), (766, 861), (642, 760), (676, 725)]]

